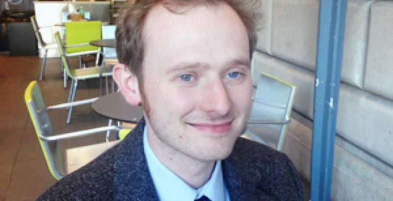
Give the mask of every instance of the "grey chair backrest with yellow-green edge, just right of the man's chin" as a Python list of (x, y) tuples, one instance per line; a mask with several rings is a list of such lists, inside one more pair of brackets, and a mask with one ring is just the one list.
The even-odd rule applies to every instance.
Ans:
[[(262, 72), (255, 91), (247, 131), (255, 141), (282, 149), (296, 86)], [(287, 123), (285, 123), (287, 122)]]

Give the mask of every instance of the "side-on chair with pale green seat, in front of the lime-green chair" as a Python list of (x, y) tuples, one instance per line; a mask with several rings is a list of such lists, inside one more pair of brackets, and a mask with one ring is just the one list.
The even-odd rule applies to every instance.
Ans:
[[(78, 86), (79, 80), (86, 80), (86, 79), (101, 79), (102, 77), (107, 78), (108, 76), (112, 76), (112, 67), (104, 67), (104, 66), (94, 66), (88, 68), (75, 68), (71, 69), (67, 54), (65, 54), (65, 48), (63, 46), (63, 42), (60, 38), (59, 32), (54, 34), (54, 38), (57, 42), (58, 51), (60, 53), (60, 58), (62, 65), (64, 67), (64, 73), (66, 73), (71, 79), (71, 87), (70, 87), (70, 94), (68, 98), (68, 102), (74, 102), (75, 94)], [(100, 82), (101, 83), (101, 82)], [(108, 81), (106, 81), (106, 88), (108, 88)], [(100, 86), (102, 88), (102, 86)], [(72, 106), (68, 108), (69, 113), (67, 117), (67, 124), (70, 124), (71, 121), (71, 114), (72, 114)]]

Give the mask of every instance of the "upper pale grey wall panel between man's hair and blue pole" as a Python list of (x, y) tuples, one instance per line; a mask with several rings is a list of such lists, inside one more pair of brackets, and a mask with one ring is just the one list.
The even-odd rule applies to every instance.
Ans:
[(317, 0), (274, 1), (274, 56), (315, 69), (318, 7)]

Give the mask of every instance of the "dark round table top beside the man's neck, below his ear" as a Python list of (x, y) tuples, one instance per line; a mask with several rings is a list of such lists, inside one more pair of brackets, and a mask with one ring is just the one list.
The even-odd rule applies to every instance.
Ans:
[(92, 108), (99, 115), (122, 122), (137, 123), (143, 117), (142, 107), (129, 105), (121, 93), (101, 96)]

